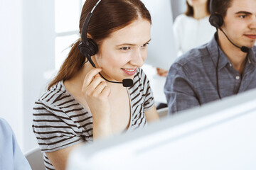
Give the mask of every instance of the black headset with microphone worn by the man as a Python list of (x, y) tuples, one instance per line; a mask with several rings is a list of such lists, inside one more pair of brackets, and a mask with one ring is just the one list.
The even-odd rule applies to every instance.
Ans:
[(248, 53), (249, 52), (249, 48), (242, 46), (239, 47), (238, 45), (235, 45), (235, 43), (233, 43), (229, 38), (228, 35), (225, 34), (224, 30), (221, 28), (221, 26), (223, 26), (224, 20), (223, 20), (223, 16), (221, 16), (219, 13), (215, 13), (215, 8), (213, 8), (213, 1), (215, 0), (210, 0), (210, 18), (209, 18), (209, 22), (210, 25), (214, 26), (217, 30), (217, 44), (218, 44), (218, 60), (216, 63), (216, 84), (217, 84), (217, 93), (218, 93), (218, 97), (221, 99), (220, 96), (220, 87), (219, 87), (219, 83), (218, 83), (218, 63), (220, 60), (220, 44), (218, 42), (218, 29), (223, 32), (223, 34), (225, 35), (225, 37), (228, 39), (228, 41), (233, 44), (235, 47), (238, 47), (242, 52)]

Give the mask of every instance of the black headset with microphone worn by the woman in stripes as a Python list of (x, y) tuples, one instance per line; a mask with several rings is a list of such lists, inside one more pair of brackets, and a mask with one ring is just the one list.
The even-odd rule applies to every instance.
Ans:
[[(96, 55), (98, 52), (98, 47), (97, 47), (97, 43), (92, 40), (91, 38), (87, 38), (87, 29), (90, 23), (90, 18), (92, 18), (92, 12), (95, 10), (96, 6), (100, 3), (101, 0), (97, 1), (97, 3), (95, 4), (95, 6), (92, 8), (92, 11), (90, 11), (90, 13), (88, 13), (88, 15), (85, 18), (85, 23), (82, 26), (82, 33), (81, 33), (81, 41), (79, 42), (78, 45), (78, 50), (80, 52), (81, 55), (83, 55), (84, 57), (87, 58), (87, 60), (90, 62), (90, 64), (92, 64), (92, 67), (95, 67), (95, 64), (92, 62), (92, 56)], [(99, 73), (100, 74), (100, 73)], [(105, 79), (105, 77), (102, 76), (102, 74), (100, 74), (100, 76)], [(133, 81), (132, 79), (123, 79), (122, 82), (118, 82), (118, 81), (110, 81), (105, 79), (106, 81), (110, 82), (110, 83), (117, 83), (117, 84), (122, 84), (124, 87), (129, 87), (133, 85)]]

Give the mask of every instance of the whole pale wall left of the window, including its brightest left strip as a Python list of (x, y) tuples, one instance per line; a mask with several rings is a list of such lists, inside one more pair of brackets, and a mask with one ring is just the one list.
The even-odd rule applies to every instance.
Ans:
[(43, 73), (55, 66), (54, 1), (1, 0), (0, 21), (0, 117), (26, 152), (37, 146), (32, 108), (46, 89)]

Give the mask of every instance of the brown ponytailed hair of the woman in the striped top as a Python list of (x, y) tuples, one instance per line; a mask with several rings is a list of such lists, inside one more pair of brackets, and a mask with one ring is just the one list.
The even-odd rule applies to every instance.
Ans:
[[(98, 0), (86, 0), (80, 16), (80, 34), (85, 18)], [(100, 42), (108, 38), (115, 30), (128, 26), (133, 21), (143, 18), (151, 23), (151, 16), (140, 0), (102, 0), (93, 11), (87, 33), (100, 45)], [(58, 83), (73, 77), (80, 69), (85, 57), (78, 50), (80, 38), (71, 45), (68, 57), (63, 62), (57, 76), (48, 85), (48, 90)]]

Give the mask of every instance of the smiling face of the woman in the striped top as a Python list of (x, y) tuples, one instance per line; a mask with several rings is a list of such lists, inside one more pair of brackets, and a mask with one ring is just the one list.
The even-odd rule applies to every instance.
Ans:
[(151, 40), (150, 29), (149, 21), (139, 19), (114, 31), (102, 41), (94, 59), (106, 79), (122, 81), (134, 78), (146, 59), (146, 46)]

